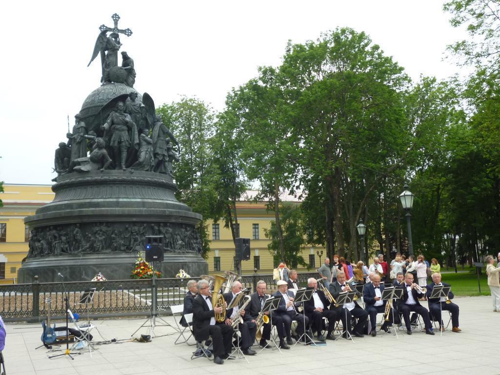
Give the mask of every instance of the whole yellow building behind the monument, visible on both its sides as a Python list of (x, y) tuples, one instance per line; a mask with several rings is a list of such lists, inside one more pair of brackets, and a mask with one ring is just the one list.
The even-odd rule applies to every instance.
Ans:
[[(29, 232), (24, 225), (24, 217), (34, 214), (37, 208), (49, 203), (54, 197), (51, 185), (3, 184), (3, 189), (4, 192), (0, 193), (3, 201), (3, 207), (0, 207), (0, 283), (17, 279), (17, 270), (27, 254)], [(250, 190), (245, 198), (255, 194), (256, 191)], [(294, 200), (287, 195), (281, 198)], [(267, 249), (269, 240), (265, 238), (264, 228), (270, 227), (274, 213), (267, 212), (265, 202), (247, 200), (236, 203), (236, 213), (240, 237), (250, 238), (250, 260), (241, 262), (242, 273), (253, 273), (254, 268), (257, 268), (257, 273), (271, 273), (275, 265)], [(234, 270), (234, 243), (230, 230), (224, 228), (223, 219), (218, 223), (208, 221), (207, 225), (211, 239), (211, 251), (206, 259), (209, 272)], [(321, 265), (316, 250), (324, 251), (324, 248), (306, 246), (301, 253), (311, 269)]]

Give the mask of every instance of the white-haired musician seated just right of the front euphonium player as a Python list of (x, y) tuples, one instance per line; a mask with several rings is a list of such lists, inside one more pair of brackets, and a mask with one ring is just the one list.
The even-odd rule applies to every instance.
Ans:
[[(243, 287), (241, 286), (241, 282), (239, 281), (234, 281), (231, 285), (231, 291), (228, 293), (224, 293), (224, 299), (229, 305), (231, 303), (232, 298), (236, 296), (236, 293), (240, 292), (243, 290)], [(241, 300), (240, 304), (243, 303), (243, 300)], [(251, 348), (251, 345), (253, 345), (253, 341), (255, 341), (255, 331), (257, 329), (257, 326), (255, 325), (254, 322), (252, 322), (251, 318), (249, 316), (246, 316), (246, 311), (241, 310), (239, 311), (239, 306), (235, 306), (233, 308), (229, 308), (225, 311), (225, 323), (226, 324), (231, 324), (231, 318), (234, 317), (237, 313), (240, 313), (241, 318), (243, 319), (242, 323), (239, 323), (238, 329), (239, 333), (241, 334), (241, 337), (236, 337), (238, 341), (240, 341), (241, 345), (241, 351), (245, 355), (255, 355), (257, 352)]]

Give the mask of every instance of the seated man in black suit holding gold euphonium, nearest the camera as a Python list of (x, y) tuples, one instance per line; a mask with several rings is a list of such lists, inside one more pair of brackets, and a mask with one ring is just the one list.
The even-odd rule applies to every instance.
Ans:
[(224, 363), (232, 349), (232, 327), (215, 321), (215, 314), (222, 312), (222, 307), (213, 307), (208, 290), (208, 281), (197, 283), (198, 296), (192, 304), (192, 333), (196, 341), (204, 341), (212, 336), (213, 362)]

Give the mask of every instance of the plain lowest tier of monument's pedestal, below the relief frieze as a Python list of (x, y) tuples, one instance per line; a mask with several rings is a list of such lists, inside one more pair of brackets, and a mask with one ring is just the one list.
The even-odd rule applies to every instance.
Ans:
[[(197, 254), (165, 254), (159, 270), (163, 275), (176, 274), (183, 269), (191, 276), (199, 276), (208, 272), (206, 261)], [(108, 280), (127, 280), (134, 269), (136, 255), (123, 253), (81, 254), (46, 256), (28, 259), (19, 269), (19, 283), (30, 283), (37, 275), (43, 282), (90, 281), (97, 273)]]

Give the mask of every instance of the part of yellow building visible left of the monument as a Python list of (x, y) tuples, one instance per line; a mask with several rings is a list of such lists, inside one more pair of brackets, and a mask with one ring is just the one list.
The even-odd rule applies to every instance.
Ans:
[(50, 203), (54, 197), (50, 185), (3, 184), (0, 199), (0, 282), (16, 282), (17, 270), (28, 252), (29, 231), (24, 217)]

